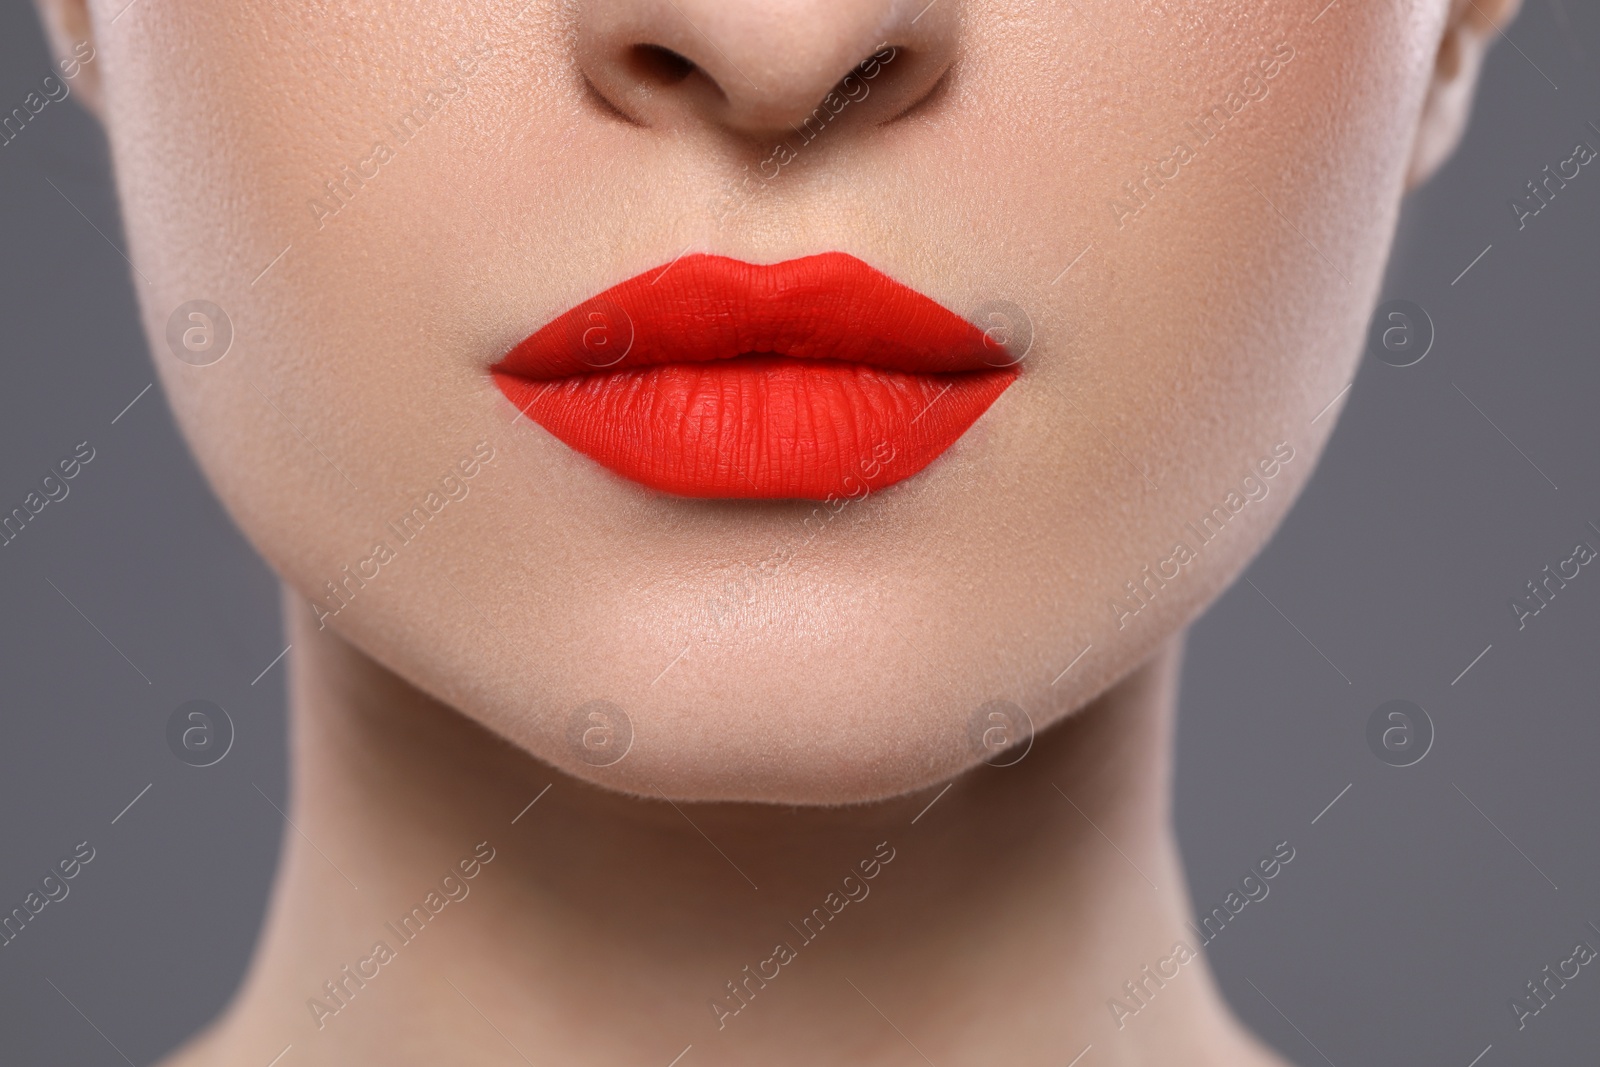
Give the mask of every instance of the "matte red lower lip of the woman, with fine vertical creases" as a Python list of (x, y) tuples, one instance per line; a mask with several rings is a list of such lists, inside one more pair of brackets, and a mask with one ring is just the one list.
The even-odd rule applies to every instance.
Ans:
[(920, 472), (1016, 374), (779, 355), (547, 381), (494, 370), (523, 414), (626, 478), (677, 496), (813, 501)]

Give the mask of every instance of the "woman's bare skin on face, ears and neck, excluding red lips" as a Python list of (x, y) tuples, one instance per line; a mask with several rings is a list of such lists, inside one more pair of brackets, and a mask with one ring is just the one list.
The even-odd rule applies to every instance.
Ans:
[[(1107, 1011), (1186, 937), (1181, 633), (1309, 477), (1515, 0), (125, 3), (38, 0), (94, 48), (166, 397), (283, 577), (304, 830), (171, 1064), (1282, 1062), (1203, 961)], [(488, 366), (688, 250), (846, 251), (1010, 302), (1032, 349), (866, 499), (648, 493)], [(168, 352), (194, 299), (234, 326), (210, 366)], [(597, 699), (632, 725), (610, 766), (571, 741)], [(1038, 726), (1014, 766), (979, 763), (989, 701)], [(480, 841), (470, 896), (326, 998)]]

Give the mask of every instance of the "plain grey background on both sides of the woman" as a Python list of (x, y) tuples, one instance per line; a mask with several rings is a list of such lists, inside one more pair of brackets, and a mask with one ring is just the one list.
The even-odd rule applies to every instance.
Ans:
[[(1528, 0), (1510, 37), (1462, 150), (1408, 205), (1386, 285), (1429, 310), (1434, 350), (1363, 363), (1254, 587), (1190, 643), (1176, 819), (1195, 904), (1296, 848), (1210, 957), (1301, 1064), (1467, 1067), (1490, 1045), (1480, 1067), (1590, 1064), (1600, 1041), (1600, 966), (1520, 1033), (1507, 1006), (1576, 941), (1600, 947), (1600, 566), (1522, 632), (1509, 608), (1576, 541), (1600, 547), (1600, 166), (1523, 232), (1507, 208), (1574, 141), (1600, 147), (1600, 11)], [(8, 0), (5, 110), (48, 72), (30, 8)], [(8, 1064), (142, 1067), (210, 1019), (283, 832), (267, 801), (285, 789), (283, 665), (261, 673), (283, 648), (274, 582), (160, 392), (123, 411), (152, 370), (120, 240), (99, 133), (51, 104), (0, 147), (0, 510), (78, 442), (96, 458), (0, 549), (0, 910), (77, 841), (96, 857), (0, 949)], [(216, 768), (165, 744), (194, 697), (237, 729)], [(1392, 697), (1437, 729), (1411, 768), (1366, 747)]]

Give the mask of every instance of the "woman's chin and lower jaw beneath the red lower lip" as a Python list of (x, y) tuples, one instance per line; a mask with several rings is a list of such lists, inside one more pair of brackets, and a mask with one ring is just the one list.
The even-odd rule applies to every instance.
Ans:
[[(582, 581), (555, 585), (576, 571), (550, 569), (498, 595), (480, 569), (458, 566), (437, 590), (421, 573), (387, 590), (373, 584), (360, 593), (373, 598), (330, 629), (603, 789), (678, 803), (859, 805), (1021, 761), (1037, 731), (1146, 662), (1238, 563), (1206, 560), (1208, 573), (1118, 630), (1104, 598), (1074, 595), (1054, 569), (848, 555), (752, 579), (744, 592), (683, 560), (630, 574), (626, 557), (608, 557), (576, 568)], [(987, 595), (971, 595), (978, 587)], [(725, 589), (723, 601), (707, 608), (706, 589)]]

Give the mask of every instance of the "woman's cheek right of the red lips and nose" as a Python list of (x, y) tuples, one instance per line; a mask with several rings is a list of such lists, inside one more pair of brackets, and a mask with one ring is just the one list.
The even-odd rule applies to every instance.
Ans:
[[(1387, 258), (1432, 67), (1424, 6), (1338, 5), (1318, 19), (1325, 2), (1253, 5), (1221, 34), (1221, 19), (1174, 11), (1115, 48), (1070, 13), (1021, 22), (978, 46), (952, 86), (960, 104), (930, 120), (936, 141), (896, 134), (909, 158), (894, 163), (963, 205), (920, 221), (939, 234), (930, 246), (962, 248), (973, 288), (1034, 325), (1024, 378), (986, 427), (1003, 475), (939, 531), (982, 545), (974, 573), (994, 568), (973, 577), (986, 609), (963, 606), (960, 624), (1002, 635), (960, 661), (987, 673), (989, 696), (1006, 672), (986, 661), (1048, 681), (1093, 645), (1035, 691), (1056, 709), (1091, 696), (1194, 617), (1293, 502)], [(1030, 38), (1050, 40), (1048, 54)], [(1278, 64), (1270, 80), (1262, 58)], [(1246, 78), (1270, 91), (1250, 101)], [(1213, 107), (1226, 122), (1205, 126)], [(950, 144), (968, 146), (970, 166), (949, 163)], [(1187, 162), (1163, 181), (1157, 165), (1173, 157)], [(862, 186), (882, 216), (915, 216), (923, 186), (888, 166), (874, 178)], [(1200, 547), (1189, 525), (1229, 493), (1246, 498), (1243, 478), (1280, 442), (1296, 459), (1272, 493), (1117, 625), (1128, 582), (1174, 542)], [(1050, 641), (1027, 637), (1040, 633)]]

